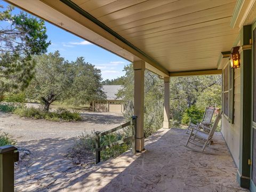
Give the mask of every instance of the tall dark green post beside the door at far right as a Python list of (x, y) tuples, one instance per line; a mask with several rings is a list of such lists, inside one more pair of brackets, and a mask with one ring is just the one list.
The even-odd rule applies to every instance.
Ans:
[(251, 158), (251, 122), (252, 122), (252, 50), (250, 39), (252, 26), (243, 26), (241, 29), (241, 108), (240, 108), (240, 145), (239, 145), (239, 169), (237, 180), (241, 187), (250, 188), (251, 165), (248, 163)]

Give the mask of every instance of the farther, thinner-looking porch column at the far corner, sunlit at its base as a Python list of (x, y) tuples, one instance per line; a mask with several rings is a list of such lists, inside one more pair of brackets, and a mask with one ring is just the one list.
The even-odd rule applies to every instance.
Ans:
[(170, 77), (164, 77), (164, 122), (163, 128), (169, 129), (170, 119)]

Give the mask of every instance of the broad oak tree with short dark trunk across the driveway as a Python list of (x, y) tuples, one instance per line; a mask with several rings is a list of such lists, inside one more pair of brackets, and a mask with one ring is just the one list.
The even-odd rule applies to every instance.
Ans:
[(55, 100), (79, 105), (105, 98), (101, 91), (100, 70), (84, 62), (84, 58), (68, 62), (56, 51), (38, 55), (34, 59), (37, 61), (35, 77), (27, 94), (31, 99), (41, 100), (45, 110), (48, 111)]

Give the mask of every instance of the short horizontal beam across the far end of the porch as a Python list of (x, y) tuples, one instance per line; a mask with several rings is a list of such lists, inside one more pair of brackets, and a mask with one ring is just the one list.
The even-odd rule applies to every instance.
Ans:
[(170, 73), (170, 77), (178, 76), (195, 76), (195, 75), (217, 75), (221, 74), (222, 70), (219, 69), (205, 69), (205, 70), (193, 70), (193, 71), (179, 71)]

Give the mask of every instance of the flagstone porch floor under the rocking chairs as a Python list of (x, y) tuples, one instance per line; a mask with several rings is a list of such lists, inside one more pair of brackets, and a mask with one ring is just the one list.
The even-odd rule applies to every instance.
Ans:
[(198, 153), (184, 145), (182, 129), (161, 129), (146, 142), (146, 150), (123, 155), (99, 165), (91, 174), (79, 175), (59, 191), (247, 191), (236, 181), (237, 168), (221, 133), (207, 150)]

